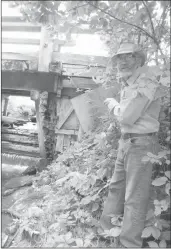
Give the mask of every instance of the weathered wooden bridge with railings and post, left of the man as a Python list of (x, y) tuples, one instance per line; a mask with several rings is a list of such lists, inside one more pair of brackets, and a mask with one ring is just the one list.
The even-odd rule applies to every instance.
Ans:
[(2, 37), (2, 45), (38, 46), (32, 54), (2, 50), (2, 94), (30, 96), (35, 101), (40, 156), (53, 159), (84, 130), (72, 100), (99, 86), (92, 76), (104, 72), (108, 58), (61, 53), (62, 46), (73, 42), (52, 40), (46, 27), (19, 17), (2, 17), (2, 32), (6, 31), (39, 33), (40, 39)]

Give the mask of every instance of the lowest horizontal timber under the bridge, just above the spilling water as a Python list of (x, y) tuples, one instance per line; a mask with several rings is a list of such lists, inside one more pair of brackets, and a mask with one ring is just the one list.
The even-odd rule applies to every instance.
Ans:
[(39, 148), (32, 147), (32, 146), (23, 146), (18, 144), (12, 144), (11, 142), (1, 142), (1, 148), (2, 152), (4, 153), (4, 150), (11, 150), (11, 151), (20, 151), (20, 152), (29, 152), (29, 153), (35, 153), (40, 155)]

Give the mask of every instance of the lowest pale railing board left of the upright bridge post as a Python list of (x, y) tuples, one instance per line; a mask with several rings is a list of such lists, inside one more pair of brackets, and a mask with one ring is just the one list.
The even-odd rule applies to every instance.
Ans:
[(31, 61), (38, 58), (38, 54), (35, 53), (33, 55), (29, 54), (19, 54), (19, 53), (8, 53), (8, 52), (2, 52), (2, 60), (22, 60), (22, 61)]

